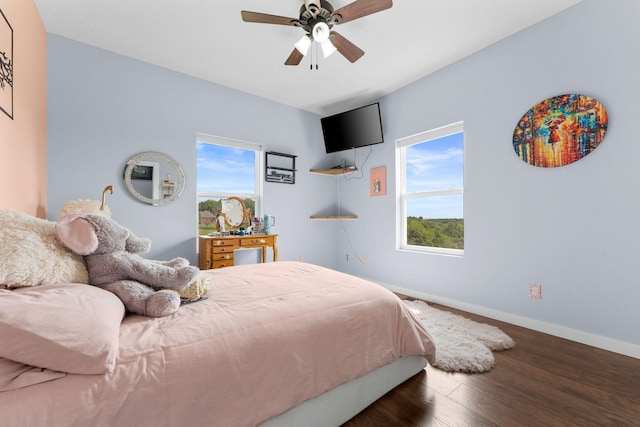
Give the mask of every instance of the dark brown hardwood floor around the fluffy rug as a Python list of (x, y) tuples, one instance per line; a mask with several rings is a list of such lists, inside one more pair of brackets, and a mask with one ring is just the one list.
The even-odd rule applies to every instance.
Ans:
[(516, 348), (483, 374), (427, 366), (344, 427), (640, 426), (639, 359), (437, 307), (499, 327)]

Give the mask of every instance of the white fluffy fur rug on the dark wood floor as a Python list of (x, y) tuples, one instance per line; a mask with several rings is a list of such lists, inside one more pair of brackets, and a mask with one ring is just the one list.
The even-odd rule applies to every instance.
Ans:
[(443, 371), (486, 372), (496, 364), (492, 350), (515, 346), (499, 328), (438, 310), (424, 301), (403, 301), (422, 321), (436, 344), (436, 368)]

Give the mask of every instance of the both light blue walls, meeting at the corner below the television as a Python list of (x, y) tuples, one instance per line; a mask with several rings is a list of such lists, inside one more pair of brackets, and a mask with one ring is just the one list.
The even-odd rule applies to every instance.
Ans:
[[(635, 0), (585, 0), (383, 98), (386, 143), (373, 147), (363, 179), (349, 181), (306, 172), (337, 163), (324, 154), (313, 114), (49, 35), (48, 210), (55, 217), (65, 200), (98, 198), (115, 184), (108, 198), (114, 218), (153, 239), (151, 256), (195, 262), (195, 133), (262, 143), (299, 156), (295, 185), (265, 183), (281, 259), (302, 255), (416, 296), (640, 357), (639, 18)], [(604, 142), (568, 166), (526, 165), (511, 146), (517, 120), (563, 93), (605, 106)], [(395, 140), (459, 120), (465, 256), (398, 251)], [(146, 150), (184, 166), (187, 189), (174, 205), (148, 207), (125, 193), (124, 163)], [(367, 153), (355, 153), (358, 166)], [(388, 194), (370, 197), (369, 169), (381, 165)], [(360, 217), (342, 224), (346, 233), (339, 223), (308, 219), (333, 207), (338, 192), (341, 207)], [(532, 282), (542, 285), (541, 300), (528, 298)]]

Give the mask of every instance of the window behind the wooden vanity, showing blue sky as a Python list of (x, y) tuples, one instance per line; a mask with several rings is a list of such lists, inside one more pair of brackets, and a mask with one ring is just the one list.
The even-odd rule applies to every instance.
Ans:
[(198, 134), (196, 144), (198, 235), (216, 231), (220, 200), (228, 197), (239, 197), (250, 216), (258, 216), (262, 147), (202, 134)]

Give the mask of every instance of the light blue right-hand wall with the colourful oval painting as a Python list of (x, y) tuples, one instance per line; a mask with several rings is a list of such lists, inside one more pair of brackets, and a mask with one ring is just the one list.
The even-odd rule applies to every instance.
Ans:
[[(387, 166), (390, 192), (369, 197), (367, 182), (345, 182), (343, 197), (361, 218), (347, 224), (348, 236), (369, 264), (346, 262), (351, 249), (341, 239), (338, 268), (574, 335), (640, 344), (639, 19), (635, 0), (586, 0), (382, 99), (387, 142), (368, 166)], [(511, 145), (517, 121), (564, 93), (605, 106), (603, 143), (568, 166), (525, 164)], [(398, 251), (394, 143), (460, 120), (465, 255)], [(529, 283), (542, 285), (541, 300), (528, 297)]]

